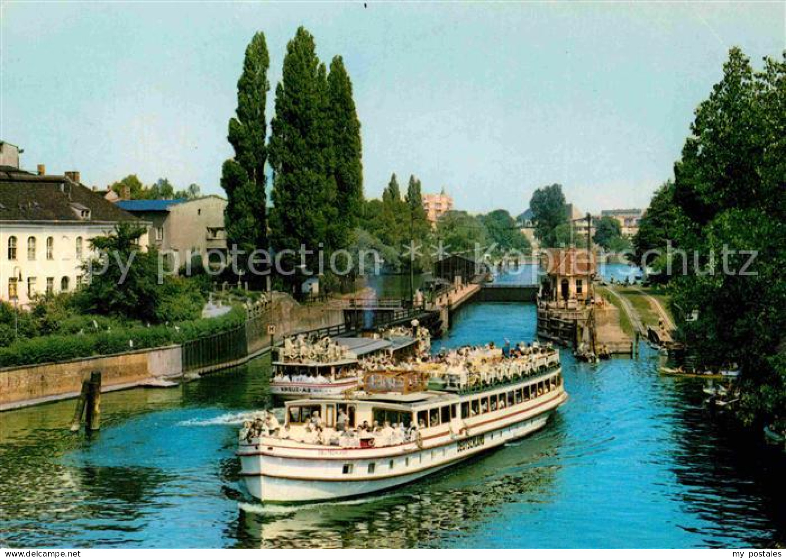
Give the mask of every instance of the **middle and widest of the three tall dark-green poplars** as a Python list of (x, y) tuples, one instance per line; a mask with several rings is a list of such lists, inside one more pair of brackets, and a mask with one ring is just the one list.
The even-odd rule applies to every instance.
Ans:
[[(339, 214), (332, 174), (331, 119), (325, 64), (314, 37), (299, 28), (288, 42), (271, 121), (270, 166), (273, 210), (270, 229), (277, 250), (336, 248), (332, 225)], [(315, 270), (317, 255), (307, 257)], [(290, 265), (294, 258), (288, 260)]]

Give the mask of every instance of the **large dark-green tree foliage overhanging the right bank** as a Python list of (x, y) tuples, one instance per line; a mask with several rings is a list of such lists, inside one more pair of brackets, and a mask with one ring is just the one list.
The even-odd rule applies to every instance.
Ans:
[[(675, 266), (670, 283), (679, 336), (703, 365), (741, 366), (747, 422), (782, 412), (786, 400), (786, 338), (777, 327), (786, 321), (784, 138), (786, 53), (755, 72), (732, 49), (696, 108), (674, 185), (656, 193), (634, 241), (637, 251), (664, 250), (664, 240), (688, 251), (688, 273)], [(685, 321), (692, 310), (698, 319)]]

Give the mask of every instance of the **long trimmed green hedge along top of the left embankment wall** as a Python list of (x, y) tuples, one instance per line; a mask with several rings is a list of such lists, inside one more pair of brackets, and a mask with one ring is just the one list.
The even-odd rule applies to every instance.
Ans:
[[(185, 321), (177, 326), (134, 326), (96, 333), (20, 339), (0, 348), (0, 368), (62, 362), (185, 343), (243, 325), (245, 312), (235, 307), (217, 318)], [(133, 341), (133, 346), (130, 341)]]

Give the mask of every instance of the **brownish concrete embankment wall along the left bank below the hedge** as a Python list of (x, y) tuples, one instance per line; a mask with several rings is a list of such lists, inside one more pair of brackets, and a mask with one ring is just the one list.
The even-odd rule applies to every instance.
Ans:
[[(183, 346), (0, 369), (0, 411), (76, 397), (83, 380), (94, 371), (102, 373), (102, 391), (116, 391), (145, 385), (155, 387), (161, 385), (161, 380), (178, 378), (184, 373), (196, 376), (239, 365), (269, 350), (268, 324), (276, 326), (276, 339), (281, 339), (281, 336), (292, 332), (341, 323), (343, 314), (338, 308), (304, 306), (291, 296), (274, 293), (270, 306), (253, 321), (247, 322), (241, 333), (245, 336), (245, 347), (220, 362), (188, 365), (191, 361), (185, 358), (184, 353), (190, 350), (189, 343), (201, 342), (197, 340)], [(208, 340), (206, 342), (209, 343)]]

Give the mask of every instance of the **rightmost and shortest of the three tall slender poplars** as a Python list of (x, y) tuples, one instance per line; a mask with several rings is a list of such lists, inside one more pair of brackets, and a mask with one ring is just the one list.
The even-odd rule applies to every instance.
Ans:
[(352, 98), (352, 82), (341, 57), (334, 57), (328, 75), (333, 178), (336, 181), (336, 247), (343, 248), (358, 224), (363, 199), (360, 120)]

